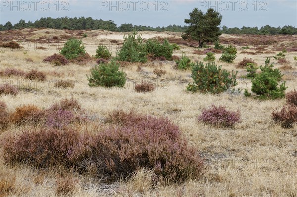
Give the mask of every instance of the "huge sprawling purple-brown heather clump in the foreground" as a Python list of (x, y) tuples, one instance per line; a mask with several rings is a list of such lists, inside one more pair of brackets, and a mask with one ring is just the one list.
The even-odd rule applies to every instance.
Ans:
[(118, 126), (96, 134), (40, 128), (10, 136), (2, 146), (3, 158), (38, 168), (92, 170), (96, 177), (110, 181), (129, 178), (141, 168), (171, 183), (203, 174), (198, 150), (188, 145), (168, 119), (114, 112), (109, 120)]

